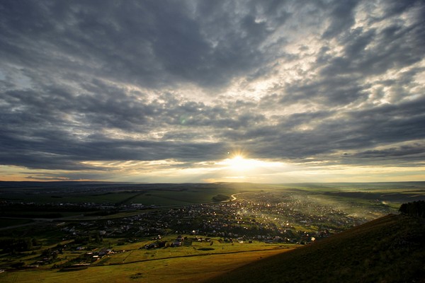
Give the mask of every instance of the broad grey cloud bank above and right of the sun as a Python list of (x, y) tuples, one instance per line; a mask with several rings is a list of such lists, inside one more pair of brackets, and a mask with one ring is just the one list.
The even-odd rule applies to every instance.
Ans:
[[(225, 132), (225, 139), (236, 140), (250, 149), (256, 158), (288, 158), (302, 160), (338, 151), (368, 151), (375, 146), (397, 144), (404, 141), (425, 139), (425, 100), (416, 100), (399, 105), (382, 105), (369, 110), (310, 112), (280, 117), (276, 125), (254, 124), (246, 131)], [(339, 115), (336, 115), (338, 114)], [(298, 129), (305, 124), (307, 129)], [(403, 152), (400, 148), (400, 153)], [(423, 149), (423, 148), (422, 148)], [(420, 151), (419, 147), (416, 150)], [(380, 151), (380, 150), (379, 150)], [(372, 152), (372, 151), (371, 151)], [(384, 153), (385, 151), (382, 151)], [(421, 159), (422, 155), (416, 156)], [(336, 162), (348, 162), (350, 156), (333, 156)], [(364, 155), (364, 157), (368, 157)], [(372, 158), (372, 154), (369, 155)], [(387, 163), (412, 161), (404, 154), (387, 155)], [(354, 160), (351, 160), (354, 161)], [(356, 159), (361, 163), (359, 159)], [(365, 160), (363, 159), (363, 162)]]

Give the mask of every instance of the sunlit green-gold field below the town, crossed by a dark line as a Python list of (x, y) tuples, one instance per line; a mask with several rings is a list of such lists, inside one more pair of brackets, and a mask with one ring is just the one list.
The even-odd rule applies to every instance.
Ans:
[[(171, 240), (171, 238), (169, 239)], [(106, 240), (108, 241), (108, 240)], [(115, 241), (112, 239), (111, 241)], [(107, 255), (83, 270), (63, 272), (52, 265), (31, 270), (6, 271), (0, 274), (1, 282), (70, 282), (77, 277), (84, 282), (201, 282), (203, 279), (234, 270), (248, 262), (283, 253), (295, 248), (291, 245), (266, 243), (219, 243), (193, 242), (190, 246), (177, 248), (142, 248), (152, 241), (141, 241), (114, 250), (123, 253)], [(67, 251), (60, 258), (77, 258), (86, 251)], [(33, 255), (35, 257), (35, 255)], [(31, 262), (31, 255), (21, 258)], [(59, 264), (61, 261), (56, 262)]]

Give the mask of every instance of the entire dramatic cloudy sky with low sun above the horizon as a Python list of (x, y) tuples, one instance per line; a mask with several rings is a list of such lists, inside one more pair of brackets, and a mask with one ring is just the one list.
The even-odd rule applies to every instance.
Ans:
[(3, 0), (0, 180), (425, 180), (424, 54), (423, 0)]

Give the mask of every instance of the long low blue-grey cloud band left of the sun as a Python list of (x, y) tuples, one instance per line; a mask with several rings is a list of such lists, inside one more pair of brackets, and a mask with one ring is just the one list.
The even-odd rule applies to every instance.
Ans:
[(43, 139), (30, 140), (8, 132), (1, 132), (0, 159), (5, 165), (61, 170), (100, 169), (81, 161), (179, 159), (203, 161), (224, 156), (225, 146), (220, 143), (191, 143), (174, 141), (122, 141), (94, 136), (79, 142), (60, 132), (37, 134)]

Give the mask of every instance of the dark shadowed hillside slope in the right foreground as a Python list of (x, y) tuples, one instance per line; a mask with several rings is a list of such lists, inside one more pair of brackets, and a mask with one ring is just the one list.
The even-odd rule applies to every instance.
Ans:
[(208, 281), (217, 282), (425, 282), (425, 224), (388, 215)]

